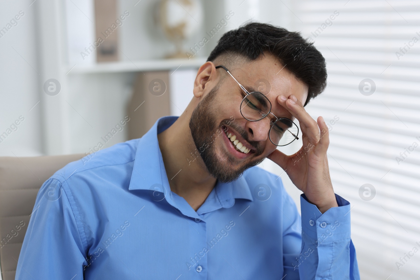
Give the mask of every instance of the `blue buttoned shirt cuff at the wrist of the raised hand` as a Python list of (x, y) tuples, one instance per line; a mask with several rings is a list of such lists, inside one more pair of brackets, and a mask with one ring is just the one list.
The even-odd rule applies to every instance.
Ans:
[(302, 234), (318, 243), (350, 238), (350, 203), (336, 194), (339, 207), (332, 207), (322, 214), (315, 204), (300, 196)]

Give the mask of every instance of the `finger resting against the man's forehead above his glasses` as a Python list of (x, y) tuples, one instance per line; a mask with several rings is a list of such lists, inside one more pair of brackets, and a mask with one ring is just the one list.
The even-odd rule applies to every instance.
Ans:
[(286, 98), (283, 95), (277, 97), (277, 102), (285, 108), (293, 117), (299, 120), (302, 133), (308, 136), (312, 144), (317, 144), (319, 141), (319, 129), (317, 122), (306, 112), (302, 102), (300, 102), (294, 95), (289, 95)]

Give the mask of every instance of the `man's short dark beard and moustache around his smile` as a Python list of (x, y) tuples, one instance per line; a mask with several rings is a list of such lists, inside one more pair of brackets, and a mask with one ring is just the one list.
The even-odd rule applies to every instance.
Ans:
[[(218, 157), (215, 139), (225, 133), (223, 124), (229, 123), (241, 136), (249, 142), (256, 150), (255, 156), (262, 154), (263, 148), (258, 141), (249, 141), (248, 134), (241, 126), (233, 123), (230, 119), (217, 121), (217, 112), (219, 106), (216, 104), (218, 86), (215, 86), (204, 99), (197, 105), (191, 115), (189, 128), (195, 147), (200, 153), (207, 172), (213, 178), (223, 183), (229, 183), (237, 180), (245, 170), (262, 162), (264, 158), (252, 160), (249, 162), (240, 162), (231, 154), (223, 153), (222, 158)], [(223, 135), (220, 137), (224, 137)]]

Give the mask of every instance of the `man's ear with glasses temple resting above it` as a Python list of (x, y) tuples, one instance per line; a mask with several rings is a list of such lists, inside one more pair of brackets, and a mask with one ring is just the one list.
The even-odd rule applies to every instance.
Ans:
[(215, 86), (218, 79), (218, 72), (213, 62), (207, 61), (198, 69), (197, 77), (194, 81), (194, 97), (201, 98), (205, 92), (208, 92), (207, 88), (212, 88), (211, 85)]

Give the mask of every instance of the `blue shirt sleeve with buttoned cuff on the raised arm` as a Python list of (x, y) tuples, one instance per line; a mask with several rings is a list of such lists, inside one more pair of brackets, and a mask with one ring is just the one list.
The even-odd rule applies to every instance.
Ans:
[(301, 195), (302, 250), (294, 259), (300, 280), (360, 280), (350, 237), (350, 203), (336, 194), (339, 207), (321, 213)]

